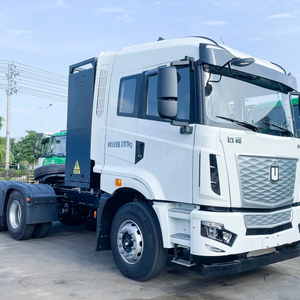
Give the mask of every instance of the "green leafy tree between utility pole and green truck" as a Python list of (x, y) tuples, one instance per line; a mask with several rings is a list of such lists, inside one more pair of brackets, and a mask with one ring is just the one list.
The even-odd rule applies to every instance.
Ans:
[[(34, 130), (26, 130), (26, 132), (28, 134), (22, 137), (20, 141), (17, 143), (15, 141), (12, 142), (11, 151), (16, 162), (27, 161), (32, 164), (34, 161), (33, 148), (37, 133)], [(37, 149), (40, 149), (39, 144)]]

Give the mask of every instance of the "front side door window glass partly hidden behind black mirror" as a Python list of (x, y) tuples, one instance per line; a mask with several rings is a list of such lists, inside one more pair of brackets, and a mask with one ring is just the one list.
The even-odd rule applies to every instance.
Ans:
[[(190, 118), (190, 69), (184, 67), (177, 69), (178, 99), (177, 119), (189, 120)], [(159, 118), (157, 112), (157, 75), (148, 77), (146, 100), (146, 116)]]

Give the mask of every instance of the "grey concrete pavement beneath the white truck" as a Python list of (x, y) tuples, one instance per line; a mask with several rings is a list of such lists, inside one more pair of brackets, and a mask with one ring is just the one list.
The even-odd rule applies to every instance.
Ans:
[(111, 252), (94, 252), (95, 233), (54, 223), (49, 236), (15, 241), (0, 233), (0, 299), (300, 299), (300, 258), (227, 277), (168, 262), (156, 278), (123, 277)]

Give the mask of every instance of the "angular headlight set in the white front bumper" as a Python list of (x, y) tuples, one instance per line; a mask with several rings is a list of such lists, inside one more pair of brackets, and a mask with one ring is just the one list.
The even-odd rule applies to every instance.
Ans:
[(201, 235), (228, 246), (232, 246), (237, 236), (235, 233), (226, 230), (223, 224), (208, 221), (201, 222)]

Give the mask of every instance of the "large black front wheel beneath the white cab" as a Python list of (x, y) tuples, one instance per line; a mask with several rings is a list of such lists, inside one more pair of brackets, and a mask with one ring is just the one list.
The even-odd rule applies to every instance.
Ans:
[(130, 279), (149, 280), (161, 271), (168, 250), (163, 248), (159, 221), (149, 204), (128, 203), (117, 211), (111, 249), (117, 267)]

